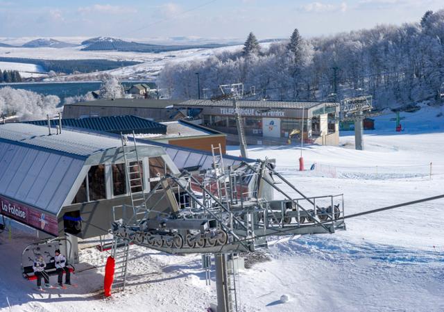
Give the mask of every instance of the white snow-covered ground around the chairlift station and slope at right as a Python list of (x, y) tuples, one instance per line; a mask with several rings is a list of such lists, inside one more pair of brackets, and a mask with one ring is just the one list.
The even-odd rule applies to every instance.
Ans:
[[(366, 131), (365, 151), (351, 149), (352, 133), (343, 133), (341, 145), (347, 145), (304, 147), (305, 163), (355, 169), (444, 165), (443, 117), (436, 117), (440, 110), (425, 106), (402, 113), (402, 133), (394, 131), (394, 114), (377, 117), (377, 130)], [(237, 147), (229, 150), (239, 154)], [(444, 193), (442, 174), (432, 179), (311, 176), (296, 171), (298, 147), (257, 146), (248, 152), (252, 158), (275, 158), (278, 171), (306, 195), (343, 193), (346, 214)], [(276, 239), (270, 261), (241, 271), (239, 311), (444, 311), (443, 206), (443, 200), (424, 202), (349, 219), (347, 231)], [(126, 293), (101, 297), (108, 254), (94, 248), (80, 252), (80, 261), (97, 268), (74, 275), (78, 288), (37, 293), (35, 284), (20, 277), (17, 265), (24, 245), (34, 238), (16, 229), (12, 238), (0, 234), (0, 311), (9, 311), (7, 297), (12, 312), (196, 312), (216, 302), (214, 280), (205, 286), (200, 256), (171, 256), (137, 246), (130, 252)], [(282, 302), (282, 295), (289, 301)]]

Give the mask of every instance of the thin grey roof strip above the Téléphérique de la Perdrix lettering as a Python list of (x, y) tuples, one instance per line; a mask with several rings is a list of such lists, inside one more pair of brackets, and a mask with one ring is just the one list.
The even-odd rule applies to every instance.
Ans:
[[(316, 102), (316, 101), (246, 101), (238, 100), (237, 105), (240, 108), (293, 108), (293, 109), (307, 109), (313, 108), (321, 105), (332, 105), (336, 106), (334, 102)], [(174, 105), (175, 107), (205, 107), (205, 106), (216, 106), (216, 107), (232, 107), (231, 100), (223, 101), (211, 101), (209, 99), (190, 99), (188, 101), (183, 101), (180, 104)]]

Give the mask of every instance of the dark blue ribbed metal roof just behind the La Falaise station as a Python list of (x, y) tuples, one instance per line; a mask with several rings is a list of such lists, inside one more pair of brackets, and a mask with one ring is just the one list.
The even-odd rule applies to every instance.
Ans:
[[(37, 126), (48, 125), (47, 120), (24, 123)], [(51, 126), (57, 125), (58, 120), (51, 120)], [(133, 133), (133, 131), (135, 133), (167, 133), (167, 126), (164, 124), (133, 115), (62, 119), (62, 127), (64, 126), (123, 134)]]

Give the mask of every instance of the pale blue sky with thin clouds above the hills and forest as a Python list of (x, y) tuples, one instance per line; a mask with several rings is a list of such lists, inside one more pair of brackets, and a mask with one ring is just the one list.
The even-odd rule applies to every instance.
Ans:
[(442, 0), (0, 0), (0, 37), (305, 37), (418, 22)]

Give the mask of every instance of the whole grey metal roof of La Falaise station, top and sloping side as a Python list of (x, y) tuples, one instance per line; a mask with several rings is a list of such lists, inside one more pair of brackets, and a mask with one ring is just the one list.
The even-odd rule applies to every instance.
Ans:
[[(165, 154), (162, 147), (140, 143), (139, 148), (140, 156)], [(122, 156), (119, 137), (66, 129), (49, 136), (44, 126), (0, 125), (1, 208), (15, 201), (57, 215), (84, 165), (114, 163)]]

